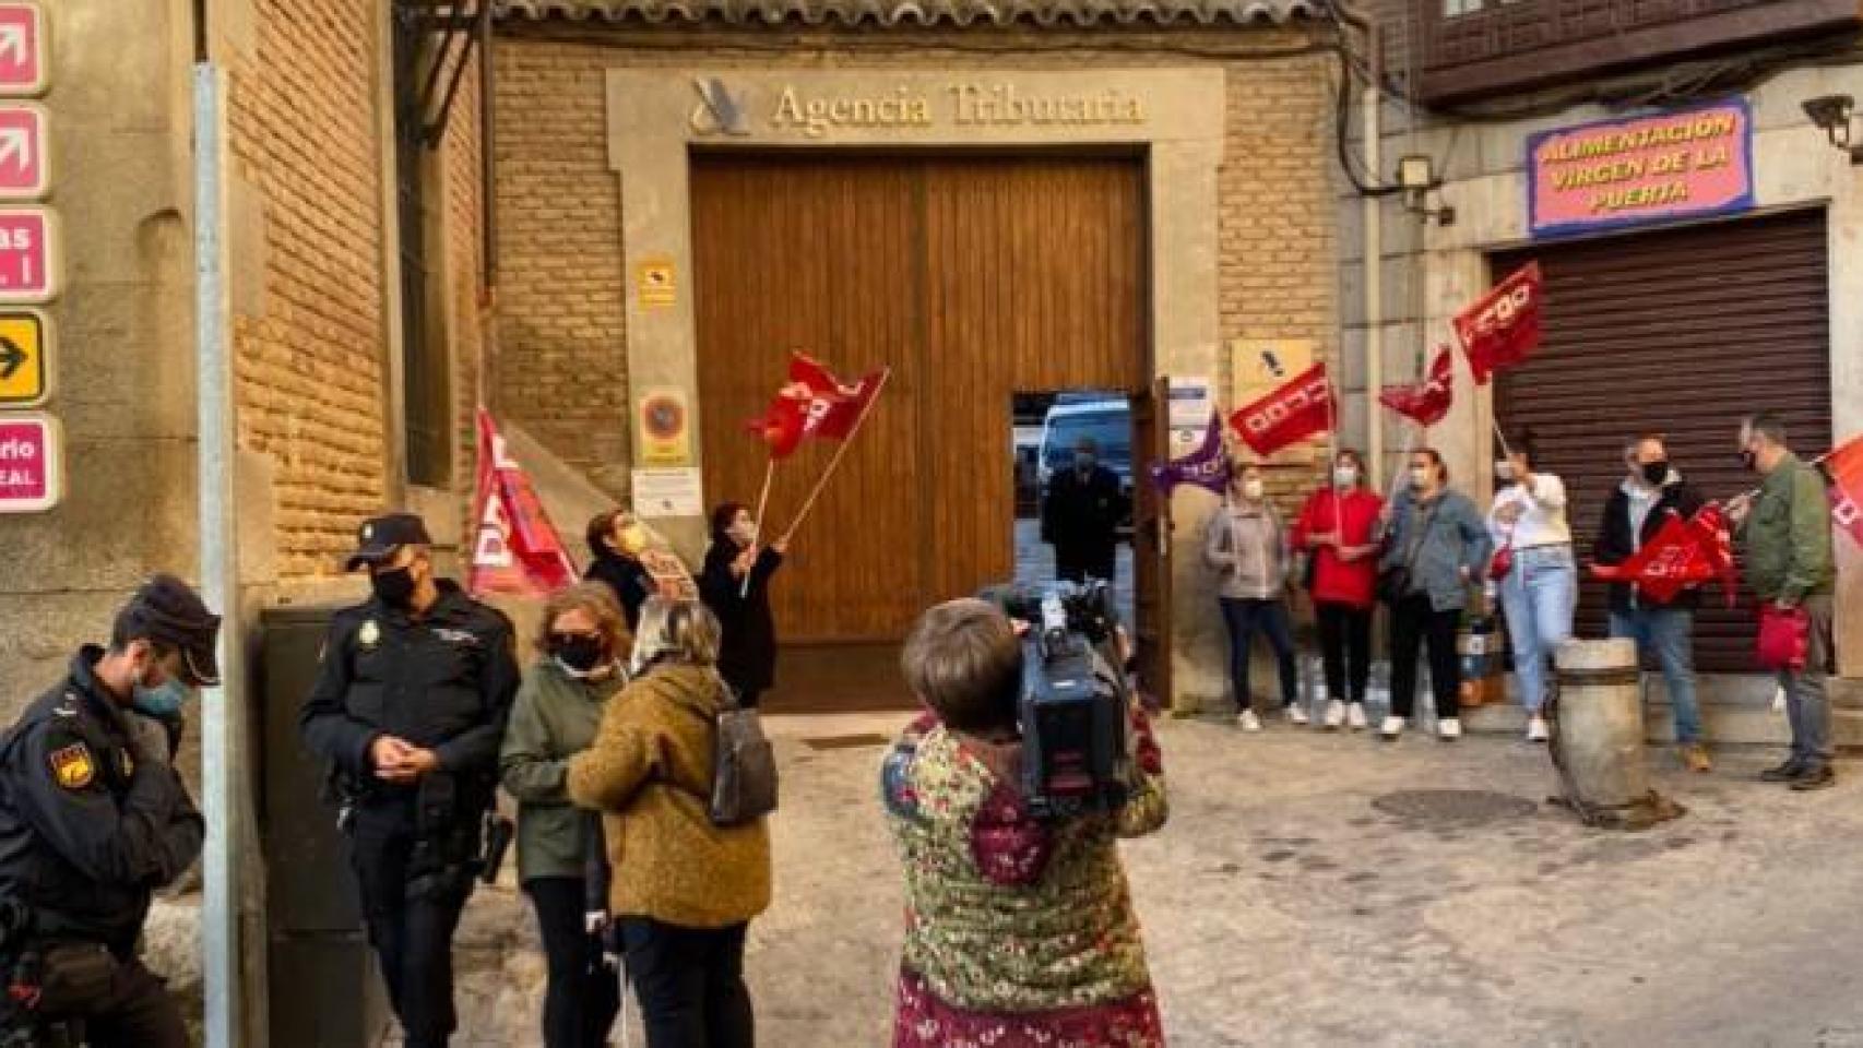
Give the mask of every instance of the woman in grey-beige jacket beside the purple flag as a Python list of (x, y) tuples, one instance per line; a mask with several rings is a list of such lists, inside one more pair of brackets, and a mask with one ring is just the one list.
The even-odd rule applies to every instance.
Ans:
[(1259, 465), (1233, 471), (1228, 499), (1209, 517), (1203, 532), (1203, 560), (1217, 570), (1217, 599), (1230, 631), (1230, 687), (1235, 691), (1237, 724), (1243, 732), (1261, 730), (1254, 694), (1248, 691), (1256, 633), (1274, 652), (1282, 711), (1289, 722), (1306, 724), (1287, 618), (1287, 527), (1267, 499)]

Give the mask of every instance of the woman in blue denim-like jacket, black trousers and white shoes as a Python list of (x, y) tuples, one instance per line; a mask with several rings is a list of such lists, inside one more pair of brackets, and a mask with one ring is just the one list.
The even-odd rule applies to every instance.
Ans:
[(1462, 661), (1455, 629), (1494, 549), (1468, 495), (1449, 488), (1449, 467), (1435, 449), (1410, 454), (1410, 486), (1392, 497), (1379, 588), (1392, 603), (1392, 707), (1386, 739), (1403, 735), (1416, 704), (1416, 657), (1429, 650), (1436, 733), (1462, 735), (1459, 689)]

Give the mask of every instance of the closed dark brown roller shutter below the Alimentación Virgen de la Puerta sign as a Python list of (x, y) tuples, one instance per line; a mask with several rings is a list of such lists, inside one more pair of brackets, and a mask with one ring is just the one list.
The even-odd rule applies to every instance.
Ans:
[[(1544, 469), (1572, 491), (1589, 562), (1604, 501), (1623, 480), (1623, 441), (1667, 434), (1669, 458), (1707, 497), (1753, 486), (1734, 458), (1738, 419), (1785, 415), (1792, 445), (1831, 439), (1829, 277), (1822, 210), (1638, 233), (1496, 255), (1494, 274), (1537, 259), (1546, 343), (1496, 383), (1502, 424), (1531, 426)], [(1718, 596), (1695, 625), (1708, 672), (1751, 672), (1753, 618)], [(1578, 629), (1602, 637), (1604, 586), (1585, 581)]]

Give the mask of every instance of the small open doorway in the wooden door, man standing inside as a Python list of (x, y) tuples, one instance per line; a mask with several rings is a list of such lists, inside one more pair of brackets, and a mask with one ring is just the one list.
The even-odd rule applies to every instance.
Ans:
[(1133, 510), (1140, 437), (1133, 400), (1112, 389), (1015, 393), (1015, 581), (1103, 579), (1136, 631)]

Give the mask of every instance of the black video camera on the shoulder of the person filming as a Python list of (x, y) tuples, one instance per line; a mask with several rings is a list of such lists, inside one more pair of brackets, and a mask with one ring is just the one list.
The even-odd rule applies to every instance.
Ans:
[(1023, 789), (1038, 819), (1114, 812), (1131, 795), (1125, 631), (1105, 583), (984, 590), (1023, 635)]

